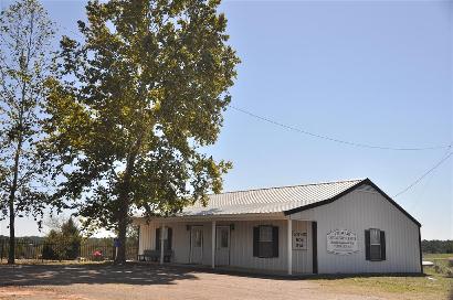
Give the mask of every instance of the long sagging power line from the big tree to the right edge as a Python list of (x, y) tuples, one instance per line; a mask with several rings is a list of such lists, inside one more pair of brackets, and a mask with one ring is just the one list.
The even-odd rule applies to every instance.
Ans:
[(262, 121), (266, 121), (268, 124), (298, 132), (298, 133), (303, 133), (306, 136), (310, 136), (314, 138), (318, 138), (318, 139), (324, 139), (324, 140), (328, 140), (331, 142), (337, 142), (337, 143), (343, 143), (343, 144), (348, 144), (348, 146), (354, 146), (354, 147), (359, 147), (359, 148), (368, 148), (368, 149), (379, 149), (379, 150), (394, 150), (394, 151), (421, 151), (421, 150), (436, 150), (436, 149), (445, 149), (451, 147), (452, 144), (443, 144), (443, 146), (434, 146), (434, 147), (420, 147), (420, 148), (405, 148), (405, 147), (387, 147), (387, 146), (378, 146), (378, 144), (368, 144), (368, 143), (361, 143), (361, 142), (354, 142), (354, 141), (347, 141), (347, 140), (340, 140), (340, 139), (336, 139), (336, 138), (331, 138), (328, 136), (324, 136), (324, 135), (318, 135), (318, 133), (314, 133), (294, 126), (289, 126), (283, 122), (278, 122), (275, 121), (273, 119), (266, 118), (266, 117), (262, 117), (259, 116), (256, 114), (253, 114), (249, 110), (245, 110), (243, 108), (239, 108), (235, 107), (233, 105), (229, 105), (229, 107), (233, 108), (234, 110), (238, 110), (240, 113), (243, 113), (245, 115), (249, 115), (250, 117), (253, 117), (255, 119), (262, 120)]

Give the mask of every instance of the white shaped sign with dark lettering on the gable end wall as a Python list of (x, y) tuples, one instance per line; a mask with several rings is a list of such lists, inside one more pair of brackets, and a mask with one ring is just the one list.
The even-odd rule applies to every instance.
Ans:
[(334, 229), (327, 234), (327, 251), (347, 255), (358, 251), (357, 235), (348, 229)]

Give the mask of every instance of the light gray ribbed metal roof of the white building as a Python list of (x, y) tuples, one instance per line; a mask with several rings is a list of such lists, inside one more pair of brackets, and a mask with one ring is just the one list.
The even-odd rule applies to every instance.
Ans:
[(348, 180), (212, 194), (209, 195), (207, 206), (197, 203), (186, 207), (181, 215), (283, 213), (335, 197), (362, 181)]

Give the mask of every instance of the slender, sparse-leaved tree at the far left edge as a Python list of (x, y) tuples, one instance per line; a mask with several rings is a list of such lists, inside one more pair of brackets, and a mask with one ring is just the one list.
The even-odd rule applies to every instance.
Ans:
[(9, 208), (9, 264), (15, 217), (32, 215), (40, 223), (46, 203), (50, 181), (39, 142), (52, 26), (35, 0), (20, 0), (0, 15), (0, 207)]

